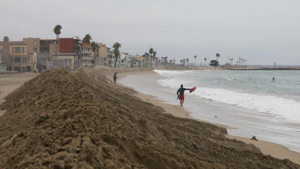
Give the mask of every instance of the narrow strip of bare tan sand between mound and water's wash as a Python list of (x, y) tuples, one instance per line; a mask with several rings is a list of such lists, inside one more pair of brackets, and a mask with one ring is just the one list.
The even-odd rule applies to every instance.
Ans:
[[(125, 78), (126, 75), (128, 74), (140, 74), (140, 73), (155, 73), (152, 70), (149, 71), (144, 71), (144, 72), (126, 72), (126, 73), (120, 73), (118, 74), (118, 78)], [(108, 78), (112, 78), (112, 77), (108, 77)], [(117, 83), (121, 86), (125, 86), (123, 84)], [(128, 87), (128, 86), (125, 86)], [(131, 88), (131, 87), (128, 87)], [(132, 89), (132, 88), (131, 88)], [(134, 89), (133, 89), (134, 90)], [(181, 117), (181, 118), (189, 118), (189, 119), (195, 119), (201, 122), (206, 122), (206, 123), (210, 123), (210, 124), (214, 124), (216, 126), (219, 127), (224, 127), (226, 129), (233, 129), (234, 127), (231, 126), (226, 126), (226, 125), (221, 125), (221, 124), (217, 124), (217, 123), (211, 123), (211, 122), (207, 122), (201, 119), (196, 119), (190, 116), (190, 112), (184, 110), (183, 107), (180, 107), (179, 105), (172, 105), (169, 103), (164, 103), (162, 100), (157, 99), (155, 96), (152, 95), (147, 95), (147, 94), (143, 94), (140, 93), (138, 91), (136, 91), (137, 94), (133, 94), (136, 97), (140, 98), (141, 100), (145, 101), (145, 102), (149, 102), (152, 103), (153, 105), (156, 106), (160, 106), (162, 107), (166, 113), (170, 113), (174, 116), (177, 117)], [(228, 139), (236, 139), (236, 140), (240, 140), (243, 141), (244, 143), (247, 144), (253, 144), (256, 147), (258, 147), (261, 152), (264, 155), (271, 155), (275, 158), (278, 159), (289, 159), (294, 163), (300, 164), (300, 153), (295, 152), (295, 151), (291, 151), (289, 150), (287, 147), (282, 146), (280, 144), (276, 144), (276, 143), (272, 143), (272, 142), (268, 142), (268, 141), (263, 141), (263, 140), (258, 140), (258, 141), (254, 141), (251, 140), (251, 138), (246, 138), (246, 137), (241, 137), (241, 136), (234, 136), (234, 135), (225, 135)]]

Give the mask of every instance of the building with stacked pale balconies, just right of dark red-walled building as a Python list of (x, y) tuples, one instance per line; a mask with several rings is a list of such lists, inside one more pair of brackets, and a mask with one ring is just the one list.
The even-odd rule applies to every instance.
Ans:
[(79, 45), (80, 45), (80, 50), (79, 50), (80, 67), (93, 66), (94, 58), (91, 57), (92, 45), (90, 43), (83, 43), (83, 42), (80, 42)]

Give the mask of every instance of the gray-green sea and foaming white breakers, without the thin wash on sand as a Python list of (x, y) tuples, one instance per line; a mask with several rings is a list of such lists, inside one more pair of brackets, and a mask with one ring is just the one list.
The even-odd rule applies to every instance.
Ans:
[(300, 71), (154, 71), (166, 77), (158, 81), (162, 86), (195, 86), (201, 98), (300, 123)]

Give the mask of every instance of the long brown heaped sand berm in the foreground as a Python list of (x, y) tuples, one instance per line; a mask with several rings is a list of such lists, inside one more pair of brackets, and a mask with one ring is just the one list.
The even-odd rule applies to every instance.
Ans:
[(40, 74), (0, 105), (0, 167), (299, 168), (132, 92), (99, 69)]

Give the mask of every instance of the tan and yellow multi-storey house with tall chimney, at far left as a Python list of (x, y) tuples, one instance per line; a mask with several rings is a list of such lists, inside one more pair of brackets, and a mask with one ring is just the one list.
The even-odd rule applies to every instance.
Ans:
[(6, 70), (27, 71), (27, 44), (23, 41), (9, 41), (5, 36), (0, 42), (2, 49), (2, 63), (6, 64)]

